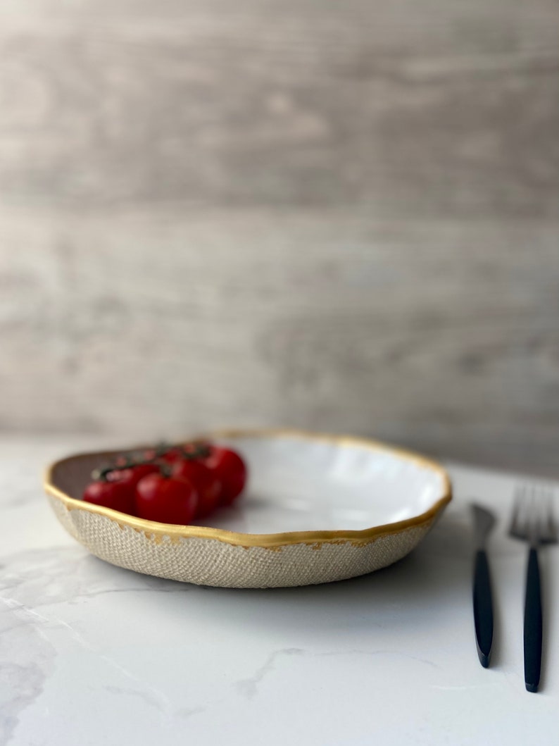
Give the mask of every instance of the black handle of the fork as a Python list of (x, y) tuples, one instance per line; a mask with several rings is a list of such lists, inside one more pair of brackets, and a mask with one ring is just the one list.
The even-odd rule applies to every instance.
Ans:
[(542, 668), (542, 594), (537, 549), (528, 554), (524, 605), (524, 683), (528, 692), (537, 692)]

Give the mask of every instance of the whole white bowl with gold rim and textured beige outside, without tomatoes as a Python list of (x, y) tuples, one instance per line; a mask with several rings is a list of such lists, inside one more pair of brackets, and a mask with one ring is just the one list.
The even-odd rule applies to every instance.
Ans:
[(113, 454), (78, 454), (47, 470), (60, 523), (92, 554), (157, 577), (229, 588), (326, 583), (396, 562), (451, 499), (446, 471), (359, 438), (236, 430), (212, 439), (242, 454), (246, 494), (205, 525), (146, 521), (82, 501), (93, 468)]

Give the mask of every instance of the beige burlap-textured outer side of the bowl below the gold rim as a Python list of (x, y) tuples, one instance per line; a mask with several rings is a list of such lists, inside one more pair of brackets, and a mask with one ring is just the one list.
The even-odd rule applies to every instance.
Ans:
[(154, 536), (107, 515), (68, 510), (48, 499), (60, 523), (92, 554), (137, 572), (226, 588), (279, 588), (327, 583), (386, 567), (423, 539), (432, 521), (367, 543), (334, 540), (281, 547), (243, 547), (218, 539)]

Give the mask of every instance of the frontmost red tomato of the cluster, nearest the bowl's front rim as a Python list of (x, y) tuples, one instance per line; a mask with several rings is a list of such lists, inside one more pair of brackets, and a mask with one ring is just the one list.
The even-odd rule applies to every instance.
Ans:
[(189, 524), (198, 507), (198, 492), (186, 479), (148, 474), (136, 485), (136, 515), (159, 523)]

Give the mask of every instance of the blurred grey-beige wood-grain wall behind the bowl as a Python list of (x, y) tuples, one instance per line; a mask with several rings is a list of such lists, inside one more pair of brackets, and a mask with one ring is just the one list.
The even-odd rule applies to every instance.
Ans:
[(0, 430), (559, 465), (558, 0), (3, 0)]

